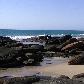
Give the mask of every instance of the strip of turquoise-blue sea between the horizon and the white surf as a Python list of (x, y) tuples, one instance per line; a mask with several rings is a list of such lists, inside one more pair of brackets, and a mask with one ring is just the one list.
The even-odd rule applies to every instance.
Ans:
[(37, 36), (37, 35), (66, 35), (84, 36), (84, 31), (75, 30), (10, 30), (0, 29), (0, 36)]

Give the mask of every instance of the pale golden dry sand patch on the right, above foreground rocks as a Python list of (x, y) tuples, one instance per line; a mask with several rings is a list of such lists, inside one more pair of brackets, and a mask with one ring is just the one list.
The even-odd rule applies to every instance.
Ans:
[(66, 75), (72, 78), (73, 75), (84, 73), (84, 65), (68, 65), (63, 63), (41, 68), (40, 71), (52, 76)]

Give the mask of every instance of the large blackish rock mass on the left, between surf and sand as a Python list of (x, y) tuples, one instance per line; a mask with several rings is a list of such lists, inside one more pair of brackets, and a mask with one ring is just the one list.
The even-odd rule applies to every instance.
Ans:
[(35, 65), (43, 59), (43, 46), (23, 45), (9, 37), (0, 37), (0, 67)]

